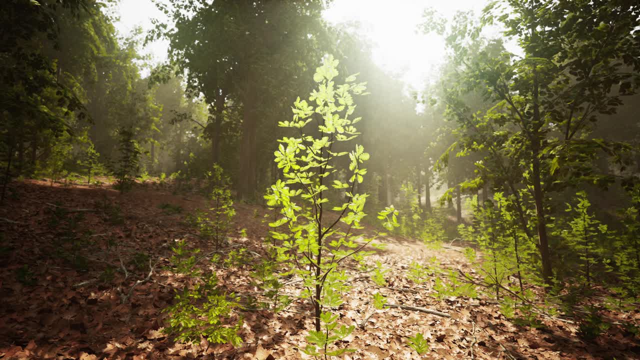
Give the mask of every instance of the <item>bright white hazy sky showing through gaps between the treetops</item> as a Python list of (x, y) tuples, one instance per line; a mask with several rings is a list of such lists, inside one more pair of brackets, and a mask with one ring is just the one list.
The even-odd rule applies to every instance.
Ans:
[[(416, 90), (444, 58), (444, 40), (436, 35), (417, 33), (416, 26), (423, 22), (425, 8), (433, 7), (451, 17), (458, 10), (474, 10), (479, 13), (486, 0), (334, 0), (324, 17), (332, 24), (358, 21), (363, 36), (374, 44), (373, 60), (389, 72), (400, 76)], [(166, 19), (156, 9), (152, 0), (120, 0), (116, 11), (120, 21), (116, 28), (126, 34), (134, 26), (147, 30), (151, 19)], [(167, 42), (156, 42), (143, 49), (157, 61), (166, 59)]]

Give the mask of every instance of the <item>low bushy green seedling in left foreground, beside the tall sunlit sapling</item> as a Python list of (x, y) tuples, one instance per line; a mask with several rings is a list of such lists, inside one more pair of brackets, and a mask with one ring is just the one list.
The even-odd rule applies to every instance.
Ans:
[(214, 344), (239, 346), (241, 320), (227, 325), (238, 307), (236, 295), (223, 293), (214, 273), (196, 277), (196, 281), (193, 288), (177, 291), (173, 305), (164, 309), (169, 314), (164, 332), (174, 334), (177, 341), (199, 343), (205, 338)]

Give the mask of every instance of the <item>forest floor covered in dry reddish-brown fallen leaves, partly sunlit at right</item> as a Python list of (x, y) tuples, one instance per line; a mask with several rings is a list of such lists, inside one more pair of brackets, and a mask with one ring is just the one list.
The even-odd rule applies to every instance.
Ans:
[[(163, 333), (175, 289), (189, 278), (176, 275), (168, 259), (175, 241), (209, 245), (185, 221), (207, 201), (195, 193), (172, 193), (157, 185), (136, 186), (120, 195), (109, 186), (11, 184), (0, 206), (0, 359), (300, 359), (308, 304), (296, 300), (280, 313), (241, 311), (240, 347), (175, 343)], [(170, 204), (171, 206), (167, 206)], [(238, 204), (228, 247), (266, 254), (268, 209)], [(242, 237), (241, 229), (246, 229)], [(613, 325), (593, 341), (577, 336), (570, 320), (542, 318), (534, 329), (516, 325), (490, 300), (438, 300), (433, 281), (406, 279), (412, 261), (435, 257), (444, 268), (472, 272), (461, 248), (429, 249), (419, 240), (389, 237), (367, 261), (380, 261), (387, 286), (371, 274), (348, 269), (351, 290), (340, 307), (340, 322), (355, 331), (340, 347), (355, 348), (344, 359), (640, 359), (634, 334)], [(214, 266), (220, 286), (239, 295), (256, 294), (246, 265)], [(281, 290), (297, 293), (298, 282)], [(375, 309), (372, 294), (388, 304), (417, 307)], [(422, 309), (422, 311), (420, 311)], [(424, 310), (433, 313), (425, 313)], [(607, 313), (614, 320), (640, 318), (640, 311)], [(419, 356), (406, 338), (424, 334), (430, 350)]]

